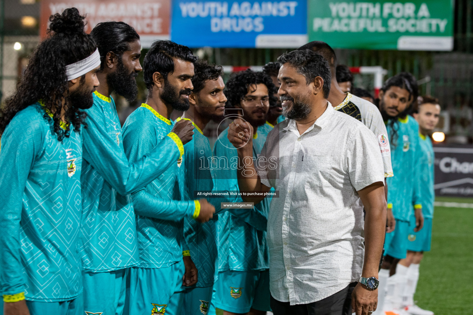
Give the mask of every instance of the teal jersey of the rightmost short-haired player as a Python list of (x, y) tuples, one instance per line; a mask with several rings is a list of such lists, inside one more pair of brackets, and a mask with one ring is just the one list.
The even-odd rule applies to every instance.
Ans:
[(420, 149), (422, 156), (418, 168), (420, 173), (420, 197), (422, 204), (422, 214), (424, 218), (432, 219), (434, 216), (434, 148), (429, 136), (420, 136)]

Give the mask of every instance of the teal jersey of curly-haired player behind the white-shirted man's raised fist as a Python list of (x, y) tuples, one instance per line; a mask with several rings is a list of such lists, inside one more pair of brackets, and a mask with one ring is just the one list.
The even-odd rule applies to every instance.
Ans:
[[(237, 153), (228, 141), (228, 128), (215, 142), (214, 156), (219, 165), (214, 166), (216, 190), (239, 191), (236, 176)], [(253, 136), (253, 157), (261, 153), (267, 134), (259, 129)], [(222, 165), (221, 158), (226, 164)], [(236, 202), (242, 202), (238, 197)], [(266, 243), (266, 224), (271, 198), (266, 197), (254, 206), (260, 219), (251, 215), (249, 209), (240, 209), (240, 216), (226, 212), (219, 214), (218, 221), (218, 271), (250, 271), (269, 268), (269, 252)]]

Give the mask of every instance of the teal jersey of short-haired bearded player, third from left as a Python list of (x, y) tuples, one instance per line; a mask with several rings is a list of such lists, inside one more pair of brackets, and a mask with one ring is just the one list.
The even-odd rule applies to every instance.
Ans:
[[(133, 111), (123, 125), (123, 145), (130, 160), (140, 159), (163, 139), (170, 138), (167, 135), (173, 126), (173, 121), (147, 104)], [(184, 153), (182, 143), (181, 149)], [(193, 217), (195, 203), (184, 200), (185, 155), (166, 156), (162, 162), (169, 165), (167, 169), (132, 194), (140, 253), (138, 266), (142, 268), (175, 264), (182, 260), (183, 249), (189, 249), (184, 241), (184, 218)]]

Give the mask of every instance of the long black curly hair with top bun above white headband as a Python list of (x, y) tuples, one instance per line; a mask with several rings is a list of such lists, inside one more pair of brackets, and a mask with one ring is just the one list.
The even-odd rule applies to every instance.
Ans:
[[(49, 21), (49, 36), (32, 53), (15, 93), (5, 100), (0, 110), (0, 135), (19, 111), (40, 100), (47, 110), (44, 118), (51, 119), (47, 112), (53, 113), (53, 129), (59, 141), (70, 136), (71, 125), (76, 132), (81, 125), (87, 126), (84, 121), (87, 114), (70, 106), (66, 65), (90, 56), (96, 50), (96, 43), (84, 32), (84, 17), (76, 8), (56, 13)], [(60, 127), (63, 108), (65, 130)]]

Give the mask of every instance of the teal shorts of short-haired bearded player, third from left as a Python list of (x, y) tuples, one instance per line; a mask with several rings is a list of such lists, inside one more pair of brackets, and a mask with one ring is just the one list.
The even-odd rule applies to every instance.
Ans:
[(181, 289), (183, 276), (182, 260), (164, 268), (131, 267), (130, 306), (127, 314), (178, 314), (175, 306), (179, 302), (173, 303), (171, 299), (179, 298), (175, 292)]

